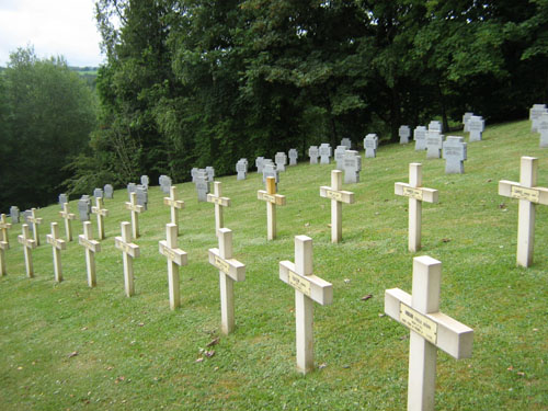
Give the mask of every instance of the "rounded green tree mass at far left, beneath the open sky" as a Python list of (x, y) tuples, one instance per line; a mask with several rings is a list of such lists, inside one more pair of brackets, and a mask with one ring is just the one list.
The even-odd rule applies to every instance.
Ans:
[(0, 73), (0, 209), (50, 204), (95, 128), (95, 98), (62, 58), (32, 48), (10, 56)]

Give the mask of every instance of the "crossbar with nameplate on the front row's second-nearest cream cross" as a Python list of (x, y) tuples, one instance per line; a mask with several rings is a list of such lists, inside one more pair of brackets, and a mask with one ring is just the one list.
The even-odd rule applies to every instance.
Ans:
[[(322, 306), (333, 302), (333, 285), (316, 275), (299, 275), (296, 272), (295, 263), (290, 261), (279, 262), (279, 279), (298, 289), (306, 296)], [(298, 282), (298, 284), (296, 284)]]

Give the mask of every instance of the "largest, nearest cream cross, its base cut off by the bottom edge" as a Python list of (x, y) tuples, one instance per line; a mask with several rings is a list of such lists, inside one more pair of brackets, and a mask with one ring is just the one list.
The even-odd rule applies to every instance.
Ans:
[(434, 410), (437, 349), (460, 359), (472, 353), (473, 330), (439, 312), (442, 263), (427, 255), (413, 259), (412, 295), (385, 292), (385, 312), (411, 330), (408, 410)]

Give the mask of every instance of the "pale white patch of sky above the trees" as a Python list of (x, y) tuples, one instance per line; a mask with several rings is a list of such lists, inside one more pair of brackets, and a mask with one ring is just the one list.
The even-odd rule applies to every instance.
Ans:
[(39, 58), (64, 56), (69, 66), (103, 62), (95, 0), (0, 0), (0, 66), (10, 53), (34, 46)]

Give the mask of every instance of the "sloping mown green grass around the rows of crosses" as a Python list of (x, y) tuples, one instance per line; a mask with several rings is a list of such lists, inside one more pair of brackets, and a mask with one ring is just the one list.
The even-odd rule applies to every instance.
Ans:
[[(266, 241), (266, 209), (256, 199), (262, 175), (218, 179), (231, 198), (225, 226), (233, 231), (233, 258), (247, 265), (246, 281), (235, 284), (229, 335), (220, 333), (219, 274), (207, 258), (218, 247), (214, 207), (197, 202), (192, 183), (178, 184), (185, 201), (179, 247), (189, 265), (180, 269), (175, 311), (158, 252), (170, 221), (158, 186), (149, 189), (134, 240), (141, 255), (132, 298), (114, 247), (121, 221), (129, 220), (125, 190), (105, 201), (95, 288), (78, 241), (61, 251), (65, 281), (54, 282), (45, 236), (58, 221), (65, 238), (60, 207), (39, 209), (35, 277), (25, 277), (21, 225), (13, 225), (0, 278), (0, 409), (403, 410), (409, 331), (384, 316), (384, 295), (411, 293), (416, 255), (442, 262), (441, 311), (475, 331), (471, 358), (438, 352), (436, 409), (548, 409), (548, 209), (537, 206), (533, 266), (516, 267), (518, 202), (498, 195), (499, 180), (520, 181), (522, 156), (539, 158), (538, 185), (548, 186), (548, 151), (529, 127), (487, 127), (483, 140), (468, 146), (465, 174), (446, 175), (444, 160), (426, 160), (412, 142), (380, 146), (363, 162), (361, 182), (343, 185), (355, 203), (343, 205), (339, 244), (331, 243), (330, 202), (319, 195), (333, 163), (300, 162), (281, 173), (287, 205), (277, 210), (274, 241)], [(408, 252), (408, 201), (393, 193), (395, 182), (408, 181), (410, 162), (421, 162), (423, 185), (439, 191), (438, 204), (423, 206), (416, 253)], [(76, 201), (70, 207), (77, 210)], [(78, 238), (80, 221), (73, 231)], [(333, 284), (333, 304), (315, 307), (316, 370), (306, 376), (295, 367), (294, 289), (278, 278), (279, 261), (294, 261), (297, 235), (313, 239), (313, 273)]]

